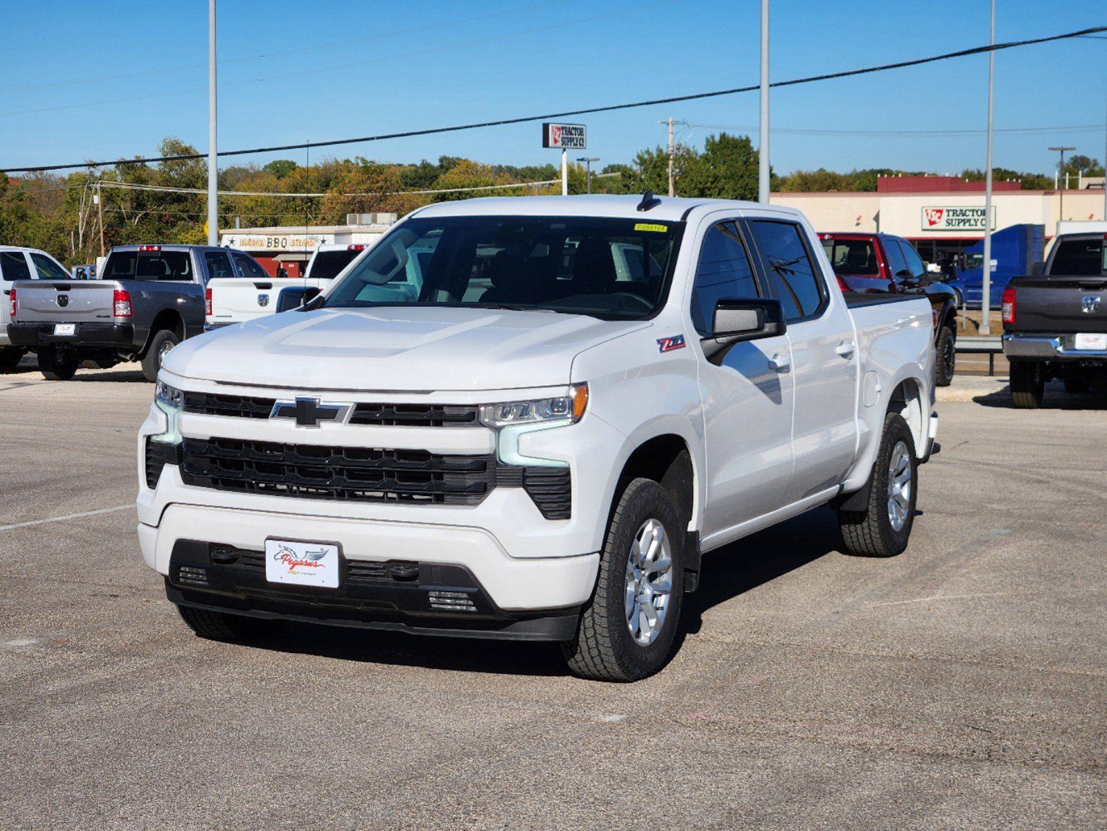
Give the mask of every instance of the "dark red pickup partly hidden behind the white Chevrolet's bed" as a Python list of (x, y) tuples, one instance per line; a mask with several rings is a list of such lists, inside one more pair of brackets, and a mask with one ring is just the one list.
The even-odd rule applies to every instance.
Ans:
[(891, 234), (819, 234), (842, 291), (925, 295), (934, 310), (935, 383), (949, 387), (956, 371), (958, 295), (927, 273), (908, 240)]

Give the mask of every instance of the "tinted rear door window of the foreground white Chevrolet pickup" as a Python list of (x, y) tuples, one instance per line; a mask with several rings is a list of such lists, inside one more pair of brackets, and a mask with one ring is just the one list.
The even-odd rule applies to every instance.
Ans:
[(773, 295), (784, 306), (785, 319), (817, 315), (824, 304), (824, 289), (800, 227), (789, 222), (753, 219), (749, 228)]

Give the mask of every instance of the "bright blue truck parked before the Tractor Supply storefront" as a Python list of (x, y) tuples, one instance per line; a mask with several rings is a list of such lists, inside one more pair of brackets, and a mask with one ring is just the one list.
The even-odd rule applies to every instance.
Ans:
[[(1012, 225), (992, 234), (991, 301), (989, 307), (999, 309), (1003, 289), (1012, 277), (1031, 274), (1044, 257), (1045, 226)], [(958, 305), (965, 309), (979, 309), (984, 289), (984, 240), (974, 243), (956, 257), (956, 268), (943, 273), (943, 281), (958, 293)]]

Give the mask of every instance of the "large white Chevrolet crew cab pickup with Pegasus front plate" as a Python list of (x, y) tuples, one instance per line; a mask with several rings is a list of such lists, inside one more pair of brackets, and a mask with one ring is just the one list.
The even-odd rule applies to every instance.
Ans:
[(205, 637), (556, 640), (633, 680), (703, 552), (819, 505), (903, 551), (933, 379), (930, 302), (848, 305), (796, 211), (433, 205), (304, 308), (166, 356), (138, 538)]

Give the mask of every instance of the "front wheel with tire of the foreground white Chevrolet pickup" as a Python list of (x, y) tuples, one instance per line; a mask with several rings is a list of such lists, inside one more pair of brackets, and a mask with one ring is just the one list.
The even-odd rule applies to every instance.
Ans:
[(619, 496), (592, 599), (562, 645), (582, 678), (635, 681), (669, 660), (684, 591), (684, 534), (673, 501), (651, 479)]

